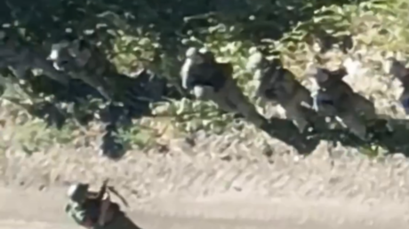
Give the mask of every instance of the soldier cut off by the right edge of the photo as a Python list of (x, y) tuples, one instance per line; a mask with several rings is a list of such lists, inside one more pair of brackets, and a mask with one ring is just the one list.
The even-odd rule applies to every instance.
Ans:
[(402, 83), (404, 91), (400, 95), (399, 101), (405, 108), (405, 113), (409, 114), (409, 69), (397, 59), (389, 57), (384, 63), (384, 70)]

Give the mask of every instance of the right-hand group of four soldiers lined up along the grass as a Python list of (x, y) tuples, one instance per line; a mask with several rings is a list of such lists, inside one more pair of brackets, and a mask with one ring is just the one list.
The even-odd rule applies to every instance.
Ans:
[[(400, 102), (409, 114), (409, 69), (394, 58), (386, 62), (387, 73), (397, 77), (405, 89)], [(257, 112), (237, 86), (232, 69), (230, 63), (217, 62), (211, 51), (189, 48), (180, 70), (182, 85), (197, 99), (212, 100), (227, 112), (243, 114), (258, 127), (268, 125), (269, 120)], [(247, 69), (259, 82), (256, 95), (283, 107), (286, 117), (293, 120), (301, 133), (316, 133), (318, 117), (333, 117), (362, 140), (370, 140), (373, 131), (380, 128), (392, 131), (386, 120), (379, 119), (373, 103), (342, 80), (348, 75), (345, 67), (330, 71), (309, 65), (306, 77), (317, 86), (313, 92), (297, 81), (280, 60), (269, 60), (261, 51), (251, 51)]]

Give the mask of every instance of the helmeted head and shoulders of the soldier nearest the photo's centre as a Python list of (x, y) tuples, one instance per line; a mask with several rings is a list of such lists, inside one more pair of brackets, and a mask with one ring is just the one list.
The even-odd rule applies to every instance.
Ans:
[(217, 62), (212, 51), (190, 47), (185, 53), (180, 75), (208, 75), (213, 71), (213, 65), (217, 65)]

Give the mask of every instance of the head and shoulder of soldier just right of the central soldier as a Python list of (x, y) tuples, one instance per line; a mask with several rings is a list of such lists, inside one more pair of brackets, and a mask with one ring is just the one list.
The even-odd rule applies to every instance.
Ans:
[(254, 80), (265, 79), (274, 75), (277, 67), (282, 67), (280, 59), (269, 60), (256, 48), (251, 48), (250, 57), (247, 59), (245, 68), (253, 73)]

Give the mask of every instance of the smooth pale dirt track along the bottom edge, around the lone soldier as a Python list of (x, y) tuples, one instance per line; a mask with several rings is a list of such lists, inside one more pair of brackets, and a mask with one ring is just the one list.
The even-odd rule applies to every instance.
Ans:
[[(2, 228), (75, 228), (63, 214), (63, 188), (42, 192), (33, 189), (0, 189), (0, 227)], [(223, 198), (224, 199), (224, 198)], [(230, 197), (225, 201), (144, 202), (128, 213), (143, 229), (159, 228), (407, 228), (405, 205), (364, 206), (341, 201), (270, 201)], [(160, 209), (160, 210), (156, 210)]]

